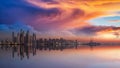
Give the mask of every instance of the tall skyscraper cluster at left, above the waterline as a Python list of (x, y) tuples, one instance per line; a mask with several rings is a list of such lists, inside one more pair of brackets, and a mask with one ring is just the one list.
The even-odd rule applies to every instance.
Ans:
[(1, 45), (31, 45), (36, 42), (36, 34), (30, 34), (29, 31), (25, 32), (20, 30), (17, 34), (12, 32), (12, 40), (2, 40)]

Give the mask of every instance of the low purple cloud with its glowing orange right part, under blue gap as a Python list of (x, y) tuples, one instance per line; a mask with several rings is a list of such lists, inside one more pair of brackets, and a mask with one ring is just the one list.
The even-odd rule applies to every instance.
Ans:
[(103, 34), (112, 34), (120, 33), (120, 27), (113, 26), (86, 26), (83, 28), (76, 28), (71, 30), (75, 35), (86, 35), (86, 36), (96, 36)]

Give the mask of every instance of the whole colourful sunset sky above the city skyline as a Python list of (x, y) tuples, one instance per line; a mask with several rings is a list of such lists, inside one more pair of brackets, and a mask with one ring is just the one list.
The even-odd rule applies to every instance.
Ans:
[(38, 37), (119, 40), (119, 0), (0, 0), (0, 39), (20, 29)]

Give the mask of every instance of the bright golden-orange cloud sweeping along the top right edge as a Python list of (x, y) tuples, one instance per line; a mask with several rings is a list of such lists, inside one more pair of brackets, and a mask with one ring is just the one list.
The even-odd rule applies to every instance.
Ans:
[[(83, 20), (92, 19), (99, 16), (104, 16), (111, 11), (120, 10), (119, 0), (52, 0), (56, 2), (51, 4), (49, 2), (42, 2), (41, 0), (28, 0), (29, 3), (36, 5), (38, 7), (43, 7), (46, 9), (50, 8), (60, 8), (66, 12), (68, 15), (72, 12), (72, 9), (80, 9), (85, 12)], [(82, 17), (81, 17), (82, 18)], [(81, 19), (80, 18), (80, 19)]]

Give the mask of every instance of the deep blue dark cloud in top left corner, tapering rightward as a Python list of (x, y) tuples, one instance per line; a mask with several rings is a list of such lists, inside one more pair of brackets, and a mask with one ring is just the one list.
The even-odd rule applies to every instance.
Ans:
[(0, 23), (12, 24), (17, 20), (34, 19), (35, 16), (49, 17), (60, 14), (57, 8), (44, 9), (28, 4), (24, 0), (0, 0)]

